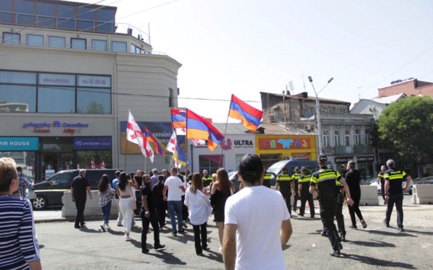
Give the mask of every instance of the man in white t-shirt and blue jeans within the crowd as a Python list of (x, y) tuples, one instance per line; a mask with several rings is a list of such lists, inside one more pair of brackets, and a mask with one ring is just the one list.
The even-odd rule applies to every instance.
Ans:
[[(185, 230), (182, 229), (182, 194), (184, 194), (186, 188), (182, 180), (180, 180), (180, 178), (176, 176), (177, 173), (177, 168), (171, 169), (171, 176), (167, 178), (166, 182), (164, 183), (163, 190), (163, 198), (164, 201), (167, 201), (167, 209), (170, 213), (173, 236), (176, 236), (178, 232), (185, 232)], [(166, 196), (167, 188), (169, 190), (168, 196)], [(179, 231), (176, 230), (176, 218), (174, 216), (175, 213), (177, 216), (177, 226), (179, 228)]]

